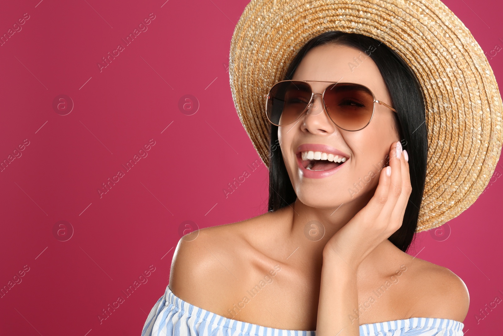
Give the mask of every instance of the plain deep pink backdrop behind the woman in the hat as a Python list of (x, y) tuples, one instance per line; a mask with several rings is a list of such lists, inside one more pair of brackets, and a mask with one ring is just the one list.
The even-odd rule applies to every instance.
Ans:
[[(2, 35), (29, 15), (0, 46), (0, 161), (21, 154), (0, 172), (0, 287), (22, 280), (0, 298), (0, 333), (139, 335), (168, 284), (185, 221), (203, 228), (267, 210), (268, 171), (239, 122), (227, 72), (247, 1), (39, 1), (0, 5)], [(501, 2), (445, 3), (501, 83)], [(147, 30), (100, 71), (102, 57), (150, 13)], [(66, 115), (68, 101), (53, 108), (59, 95), (73, 101)], [(184, 95), (198, 103), (179, 108)], [(139, 154), (147, 156), (126, 171)], [(244, 170), (250, 176), (226, 197)], [(464, 280), (468, 335), (501, 329), (503, 304), (485, 317), (479, 310), (503, 298), (502, 174), (500, 163), (472, 207), (421, 233), (410, 251)], [(148, 281), (124, 295), (145, 272)], [(119, 296), (125, 301), (100, 323)]]

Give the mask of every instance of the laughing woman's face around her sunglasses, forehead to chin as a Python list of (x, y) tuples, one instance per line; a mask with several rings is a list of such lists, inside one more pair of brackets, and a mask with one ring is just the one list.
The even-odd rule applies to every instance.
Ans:
[[(292, 79), (362, 84), (374, 93), (375, 99), (391, 105), (374, 61), (364, 52), (348, 46), (312, 48)], [(314, 93), (322, 93), (330, 83), (309, 84)], [(310, 207), (327, 209), (358, 199), (368, 200), (370, 192), (377, 186), (380, 170), (387, 165), (391, 144), (400, 140), (393, 128), (393, 113), (388, 107), (375, 103), (371, 122), (361, 130), (347, 131), (329, 119), (323, 111), (321, 96), (316, 95), (308, 113), (289, 125), (280, 126), (278, 140), (283, 160), (299, 200)], [(326, 173), (307, 171), (303, 167), (310, 161), (302, 160), (304, 151), (312, 151), (315, 159), (316, 152), (327, 155), (339, 152), (346, 159), (337, 164), (324, 161), (325, 164), (319, 165), (318, 169), (329, 169)], [(340, 167), (333, 169), (336, 165)], [(312, 169), (316, 169), (316, 165)]]

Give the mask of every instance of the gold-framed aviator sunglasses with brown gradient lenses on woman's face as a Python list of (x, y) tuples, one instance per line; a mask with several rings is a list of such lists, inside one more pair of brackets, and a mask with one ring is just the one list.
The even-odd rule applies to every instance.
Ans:
[[(307, 82), (332, 83), (323, 93), (314, 93)], [(271, 87), (266, 97), (267, 119), (276, 126), (291, 124), (314, 103), (314, 96), (321, 95), (323, 110), (339, 128), (349, 131), (365, 128), (374, 115), (375, 103), (396, 112), (388, 104), (375, 99), (374, 93), (357, 83), (333, 83), (326, 81), (281, 81)]]

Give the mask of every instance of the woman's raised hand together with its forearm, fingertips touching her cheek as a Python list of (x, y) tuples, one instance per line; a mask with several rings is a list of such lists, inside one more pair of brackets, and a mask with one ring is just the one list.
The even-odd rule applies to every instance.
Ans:
[[(360, 334), (357, 268), (402, 225), (412, 190), (406, 155), (401, 152), (399, 142), (391, 146), (389, 166), (381, 170), (379, 184), (369, 203), (325, 244), (317, 336)], [(386, 174), (389, 169), (390, 176)]]

